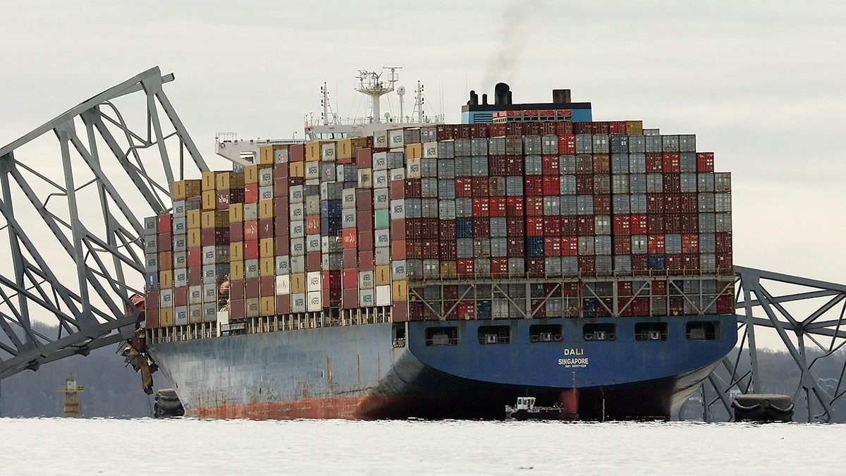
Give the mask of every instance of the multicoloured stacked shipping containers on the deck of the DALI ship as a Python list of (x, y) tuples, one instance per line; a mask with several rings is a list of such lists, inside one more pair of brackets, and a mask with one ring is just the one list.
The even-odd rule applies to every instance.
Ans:
[(733, 312), (729, 175), (695, 136), (639, 121), (265, 146), (173, 197), (146, 221), (148, 327), (213, 320), (226, 276), (233, 320)]

